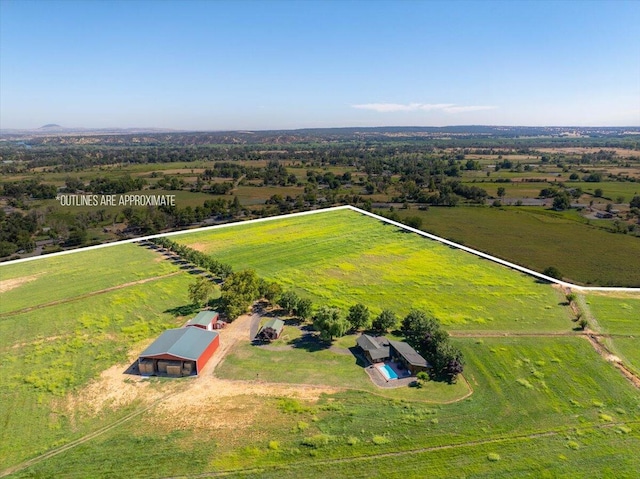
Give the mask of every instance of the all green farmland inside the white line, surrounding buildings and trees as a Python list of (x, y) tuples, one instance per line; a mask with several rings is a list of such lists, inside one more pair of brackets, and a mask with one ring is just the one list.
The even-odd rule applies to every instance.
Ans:
[[(284, 339), (269, 350), (242, 331), (246, 339), (202, 377), (130, 378), (122, 373), (148, 342), (184, 322), (176, 314), (193, 277), (156, 252), (119, 245), (0, 266), (14, 281), (0, 316), (0, 474), (120, 419), (12, 477), (451, 477), (456, 466), (461, 476), (631, 477), (640, 467), (640, 394), (571, 331), (550, 285), (346, 210), (172, 239), (254, 268), (316, 306), (433, 311), (471, 336), (452, 341), (473, 394), (447, 403), (465, 396), (462, 379), (381, 391), (345, 351), (283, 348)], [(36, 282), (36, 300), (22, 298)], [(113, 286), (122, 287), (100, 292)], [(619, 309), (616, 296), (587, 298), (593, 314)], [(623, 320), (635, 314), (630, 304)], [(634, 328), (618, 316), (610, 327)]]

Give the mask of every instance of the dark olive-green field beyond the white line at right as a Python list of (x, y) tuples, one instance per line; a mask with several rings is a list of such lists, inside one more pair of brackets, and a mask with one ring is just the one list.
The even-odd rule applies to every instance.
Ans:
[(576, 211), (456, 207), (397, 212), (420, 217), (425, 231), (535, 271), (555, 266), (571, 282), (640, 286), (640, 268), (629, 260), (640, 258), (638, 238), (589, 225)]

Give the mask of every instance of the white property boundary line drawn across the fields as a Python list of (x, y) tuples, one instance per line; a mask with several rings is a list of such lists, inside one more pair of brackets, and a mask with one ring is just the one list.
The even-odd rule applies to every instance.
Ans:
[(384, 223), (388, 223), (388, 224), (394, 225), (394, 226), (396, 226), (398, 228), (402, 228), (402, 229), (410, 231), (412, 233), (416, 233), (416, 234), (418, 234), (420, 236), (424, 236), (425, 238), (429, 238), (431, 240), (438, 241), (439, 243), (443, 243), (443, 244), (446, 244), (447, 246), (451, 246), (453, 248), (457, 248), (457, 249), (460, 249), (462, 251), (466, 251), (467, 253), (471, 253), (473, 255), (479, 256), (479, 257), (484, 258), (484, 259), (488, 259), (489, 261), (493, 261), (494, 263), (501, 264), (502, 266), (507, 266), (508, 268), (514, 269), (516, 271), (520, 271), (521, 273), (525, 273), (525, 274), (528, 274), (530, 276), (534, 276), (536, 278), (542, 279), (542, 280), (547, 281), (549, 283), (559, 284), (559, 285), (567, 287), (567, 288), (579, 289), (579, 290), (582, 290), (582, 291), (621, 291), (621, 292), (630, 292), (630, 293), (640, 292), (640, 288), (621, 288), (621, 287), (605, 287), (605, 286), (580, 286), (580, 285), (573, 284), (573, 283), (567, 283), (566, 281), (561, 281), (559, 279), (552, 278), (551, 276), (547, 276), (547, 275), (544, 275), (542, 273), (538, 273), (537, 271), (533, 271), (532, 269), (525, 268), (524, 266), (520, 266), (520, 265), (517, 265), (515, 263), (511, 263), (509, 261), (505, 261), (503, 259), (496, 258), (495, 256), (491, 256), (490, 254), (483, 253), (482, 251), (478, 251), (478, 250), (475, 250), (473, 248), (469, 248), (468, 246), (464, 246), (464, 245), (455, 243), (453, 241), (449, 241), (447, 239), (441, 238), (440, 236), (436, 236), (436, 235), (433, 235), (431, 233), (427, 233), (425, 231), (422, 231), (422, 230), (419, 230), (419, 229), (416, 229), (416, 228), (412, 228), (411, 226), (407, 226), (407, 225), (399, 223), (397, 221), (390, 220), (389, 218), (385, 218), (384, 216), (376, 215), (375, 213), (371, 213), (369, 211), (361, 210), (360, 208), (356, 208), (355, 206), (351, 206), (351, 205), (334, 206), (334, 207), (331, 207), (331, 208), (323, 208), (323, 209), (317, 209), (317, 210), (302, 211), (300, 213), (289, 213), (289, 214), (280, 215), (280, 216), (269, 216), (267, 218), (257, 218), (255, 220), (238, 221), (238, 222), (235, 222), (235, 223), (224, 223), (224, 224), (221, 224), (221, 225), (203, 226), (201, 228), (192, 228), (192, 229), (187, 229), (187, 230), (182, 230), (182, 231), (172, 231), (170, 233), (161, 233), (161, 234), (156, 234), (156, 235), (142, 236), (140, 238), (131, 238), (131, 239), (127, 239), (127, 240), (114, 241), (112, 243), (104, 243), (104, 244), (99, 244), (99, 245), (95, 245), (95, 246), (87, 246), (86, 248), (78, 248), (78, 249), (73, 249), (73, 250), (68, 250), (68, 251), (61, 251), (59, 253), (51, 253), (51, 254), (47, 254), (47, 255), (44, 255), (44, 256), (31, 256), (29, 258), (22, 258), (22, 259), (17, 259), (17, 260), (13, 260), (13, 261), (6, 261), (4, 263), (0, 263), (0, 267), (6, 266), (6, 265), (10, 265), (10, 264), (16, 264), (16, 263), (24, 263), (26, 261), (35, 261), (35, 260), (38, 260), (38, 259), (51, 258), (53, 256), (61, 256), (61, 255), (65, 255), (65, 254), (78, 253), (78, 252), (81, 252), (81, 251), (89, 251), (89, 250), (99, 249), (99, 248), (108, 248), (110, 246), (117, 246), (117, 245), (126, 244), (126, 243), (137, 243), (138, 241), (145, 241), (145, 240), (150, 240), (150, 239), (154, 239), (154, 238), (163, 238), (163, 237), (166, 237), (166, 236), (177, 236), (177, 235), (189, 234), (189, 233), (199, 233), (201, 231), (209, 231), (209, 230), (215, 230), (215, 229), (220, 229), (220, 228), (229, 228), (229, 227), (232, 227), (232, 226), (241, 226), (241, 225), (247, 225), (247, 224), (253, 224), (253, 223), (260, 223), (260, 222), (263, 222), (263, 221), (280, 220), (280, 219), (285, 219), (285, 218), (293, 218), (293, 217), (296, 217), (296, 216), (313, 215), (313, 214), (316, 214), (316, 213), (326, 213), (326, 212), (329, 212), (329, 211), (339, 211), (339, 210), (351, 210), (351, 211), (355, 211), (357, 213), (363, 214), (365, 216), (370, 216), (371, 218), (375, 218), (375, 219), (377, 219), (379, 221), (382, 221)]

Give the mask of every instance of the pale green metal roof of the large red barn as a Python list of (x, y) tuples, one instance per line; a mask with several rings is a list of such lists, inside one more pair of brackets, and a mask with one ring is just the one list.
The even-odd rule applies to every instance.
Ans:
[(196, 361), (216, 336), (218, 333), (215, 331), (200, 328), (167, 329), (140, 354), (140, 357), (169, 354)]

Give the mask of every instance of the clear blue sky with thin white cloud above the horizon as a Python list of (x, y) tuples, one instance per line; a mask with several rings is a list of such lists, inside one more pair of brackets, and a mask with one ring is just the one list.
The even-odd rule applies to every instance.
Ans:
[(0, 0), (0, 127), (640, 125), (640, 1)]

